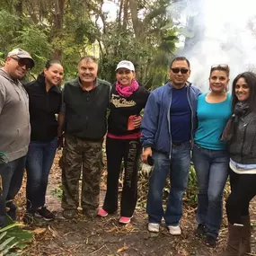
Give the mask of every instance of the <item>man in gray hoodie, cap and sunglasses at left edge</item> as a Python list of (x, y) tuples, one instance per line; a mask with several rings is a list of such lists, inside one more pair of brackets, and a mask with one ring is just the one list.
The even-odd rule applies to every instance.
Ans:
[(12, 200), (22, 185), (31, 126), (29, 97), (20, 80), (33, 66), (27, 51), (13, 49), (0, 69), (0, 227), (4, 225), (6, 207), (15, 219)]

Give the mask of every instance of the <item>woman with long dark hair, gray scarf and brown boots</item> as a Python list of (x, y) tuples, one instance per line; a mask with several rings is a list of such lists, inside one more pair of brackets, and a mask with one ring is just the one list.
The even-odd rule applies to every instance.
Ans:
[(230, 153), (231, 194), (226, 202), (229, 237), (221, 256), (251, 252), (249, 204), (256, 195), (256, 75), (237, 75), (232, 94), (234, 114), (223, 133)]

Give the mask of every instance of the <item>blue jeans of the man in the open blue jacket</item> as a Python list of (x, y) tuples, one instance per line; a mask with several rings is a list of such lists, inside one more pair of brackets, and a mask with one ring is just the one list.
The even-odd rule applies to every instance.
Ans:
[[(179, 225), (182, 216), (182, 196), (187, 189), (190, 171), (190, 143), (172, 146), (171, 160), (168, 154), (153, 152), (154, 170), (149, 180), (146, 212), (149, 223)], [(163, 188), (170, 175), (171, 191), (165, 213), (163, 211)]]

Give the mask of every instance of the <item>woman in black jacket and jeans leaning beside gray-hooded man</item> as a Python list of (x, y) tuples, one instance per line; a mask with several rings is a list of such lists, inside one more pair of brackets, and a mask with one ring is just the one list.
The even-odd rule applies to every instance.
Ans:
[(31, 224), (34, 216), (52, 220), (55, 216), (45, 207), (49, 171), (57, 150), (56, 114), (61, 106), (59, 85), (63, 66), (49, 60), (37, 80), (24, 84), (30, 98), (31, 144), (27, 154), (27, 211), (23, 218)]

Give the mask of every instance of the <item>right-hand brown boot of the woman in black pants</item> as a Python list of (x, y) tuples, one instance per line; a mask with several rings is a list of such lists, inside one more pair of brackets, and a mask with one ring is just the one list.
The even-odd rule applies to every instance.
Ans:
[(242, 216), (243, 232), (240, 243), (239, 256), (251, 252), (251, 220), (250, 216)]

